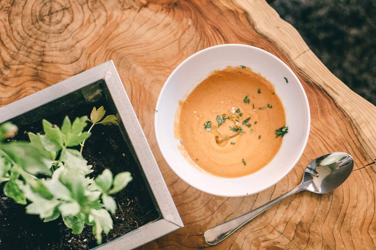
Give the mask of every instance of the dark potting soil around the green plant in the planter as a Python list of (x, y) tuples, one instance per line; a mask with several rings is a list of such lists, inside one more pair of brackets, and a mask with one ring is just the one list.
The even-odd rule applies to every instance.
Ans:
[[(93, 106), (108, 108), (105, 102), (83, 105), (71, 112), (62, 112), (45, 117), (53, 124), (61, 126), (65, 115), (73, 121), (75, 117), (90, 115)], [(111, 114), (106, 109), (106, 115)], [(86, 127), (86, 130), (88, 127)], [(42, 132), (41, 121), (20, 127), (18, 140), (28, 140), (27, 132)], [(111, 215), (114, 228), (108, 235), (102, 234), (103, 243), (133, 231), (146, 223), (158, 219), (159, 214), (140, 169), (133, 159), (126, 142), (123, 140), (117, 126), (97, 124), (92, 129), (92, 135), (85, 142), (82, 155), (93, 165), (94, 172), (90, 177), (96, 177), (106, 168), (116, 175), (129, 171), (133, 180), (121, 192), (113, 197), (117, 202), (116, 214)], [(26, 214), (25, 206), (16, 204), (3, 194), (0, 185), (0, 249), (4, 250), (76, 250), (91, 249), (97, 246), (92, 227), (85, 225), (80, 235), (74, 235), (59, 217), (44, 223), (39, 216)]]

